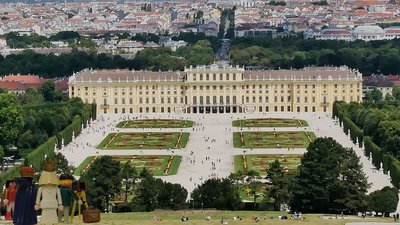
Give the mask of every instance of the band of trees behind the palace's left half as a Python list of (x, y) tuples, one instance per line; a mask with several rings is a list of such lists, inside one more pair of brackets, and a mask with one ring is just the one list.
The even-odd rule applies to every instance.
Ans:
[(214, 60), (211, 44), (206, 40), (176, 52), (168, 48), (145, 49), (132, 60), (119, 55), (74, 52), (62, 55), (42, 55), (26, 50), (19, 55), (0, 56), (0, 74), (36, 74), (45, 78), (70, 76), (85, 68), (168, 71), (183, 70), (189, 65), (207, 65)]

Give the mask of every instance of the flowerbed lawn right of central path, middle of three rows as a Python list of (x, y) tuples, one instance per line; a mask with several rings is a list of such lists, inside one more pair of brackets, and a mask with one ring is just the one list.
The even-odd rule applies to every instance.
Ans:
[(307, 148), (316, 139), (313, 132), (304, 131), (242, 132), (242, 143), (240, 133), (233, 133), (235, 148)]

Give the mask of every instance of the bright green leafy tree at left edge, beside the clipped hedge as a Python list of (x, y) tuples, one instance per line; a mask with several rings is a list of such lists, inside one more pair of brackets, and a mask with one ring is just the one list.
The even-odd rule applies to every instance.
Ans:
[(24, 126), (21, 108), (13, 94), (0, 94), (0, 145), (8, 147)]

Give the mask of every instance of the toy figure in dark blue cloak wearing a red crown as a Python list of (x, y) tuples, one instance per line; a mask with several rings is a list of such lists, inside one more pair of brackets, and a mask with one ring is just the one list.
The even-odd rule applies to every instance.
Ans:
[(35, 207), (36, 188), (32, 184), (35, 169), (22, 167), (20, 178), (17, 179), (18, 190), (15, 197), (15, 213), (13, 222), (15, 225), (32, 225), (37, 223)]

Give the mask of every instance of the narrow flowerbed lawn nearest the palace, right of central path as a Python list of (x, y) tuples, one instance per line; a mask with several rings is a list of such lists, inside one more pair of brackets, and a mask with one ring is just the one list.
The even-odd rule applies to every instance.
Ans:
[(307, 121), (284, 118), (257, 118), (232, 121), (234, 127), (306, 127)]

